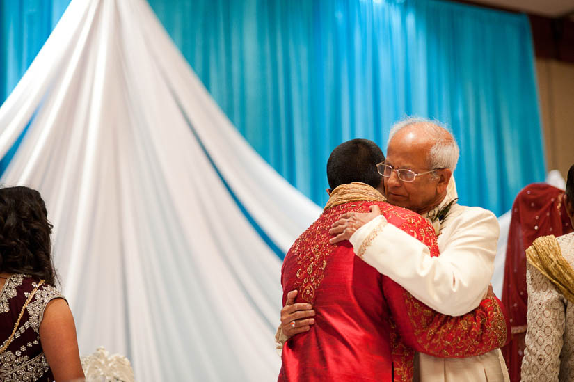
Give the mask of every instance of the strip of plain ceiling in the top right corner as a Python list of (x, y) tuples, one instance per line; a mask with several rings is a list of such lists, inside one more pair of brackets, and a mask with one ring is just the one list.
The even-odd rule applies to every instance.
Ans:
[(574, 0), (472, 0), (471, 2), (546, 17), (572, 16), (574, 13)]

